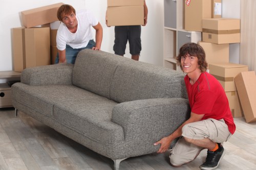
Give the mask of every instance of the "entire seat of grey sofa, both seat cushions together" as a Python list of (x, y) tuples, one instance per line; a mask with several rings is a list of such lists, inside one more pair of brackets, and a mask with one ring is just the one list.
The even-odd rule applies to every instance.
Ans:
[(111, 122), (112, 110), (117, 104), (112, 100), (73, 85), (29, 86), (18, 83), (12, 90), (20, 104), (95, 142), (124, 140), (122, 127)]

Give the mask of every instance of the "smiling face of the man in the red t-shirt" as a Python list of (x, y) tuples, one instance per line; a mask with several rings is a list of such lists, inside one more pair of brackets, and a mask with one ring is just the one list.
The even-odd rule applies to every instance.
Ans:
[(201, 72), (198, 65), (198, 57), (186, 54), (181, 56), (181, 68), (186, 74), (197, 74)]

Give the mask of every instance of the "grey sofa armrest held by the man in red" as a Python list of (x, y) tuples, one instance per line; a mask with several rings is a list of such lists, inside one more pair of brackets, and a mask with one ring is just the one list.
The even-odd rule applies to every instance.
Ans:
[(117, 104), (113, 108), (112, 122), (123, 127), (126, 142), (152, 152), (160, 147), (154, 147), (154, 142), (173, 133), (189, 115), (187, 99), (147, 99)]

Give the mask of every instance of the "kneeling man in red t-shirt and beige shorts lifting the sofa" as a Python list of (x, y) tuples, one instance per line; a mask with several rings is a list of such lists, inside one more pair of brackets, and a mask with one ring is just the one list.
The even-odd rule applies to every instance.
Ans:
[[(179, 167), (194, 160), (203, 149), (208, 149), (201, 169), (215, 169), (224, 156), (221, 143), (236, 130), (227, 96), (219, 81), (206, 72), (207, 62), (203, 48), (186, 43), (180, 48), (177, 64), (187, 75), (184, 78), (190, 117), (176, 131), (163, 137), (158, 153), (168, 150), (170, 143), (180, 137), (170, 152), (170, 163)], [(178, 113), (177, 113), (178, 114)]]

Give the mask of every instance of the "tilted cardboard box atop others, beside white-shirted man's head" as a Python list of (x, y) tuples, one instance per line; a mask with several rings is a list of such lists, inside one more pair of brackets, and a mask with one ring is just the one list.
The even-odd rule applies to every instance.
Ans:
[(22, 11), (22, 23), (26, 28), (58, 21), (57, 11), (63, 3)]

